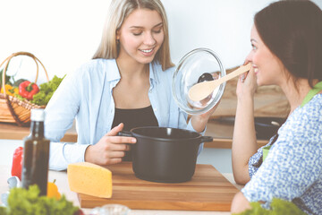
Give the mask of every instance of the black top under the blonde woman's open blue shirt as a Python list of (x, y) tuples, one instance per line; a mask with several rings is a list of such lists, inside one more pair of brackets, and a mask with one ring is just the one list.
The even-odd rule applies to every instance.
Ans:
[[(158, 126), (157, 117), (153, 112), (152, 106), (137, 109), (115, 108), (112, 128), (120, 123), (124, 124), (123, 131), (130, 131), (132, 128), (142, 126)], [(126, 152), (123, 160), (131, 160), (131, 150)]]

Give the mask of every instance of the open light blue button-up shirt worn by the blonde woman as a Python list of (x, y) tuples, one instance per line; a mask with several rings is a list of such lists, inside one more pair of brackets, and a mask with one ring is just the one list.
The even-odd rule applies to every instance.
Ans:
[[(162, 70), (149, 64), (148, 99), (160, 127), (194, 131), (187, 114), (176, 105), (172, 93), (174, 68)], [(84, 161), (85, 150), (111, 130), (114, 120), (113, 88), (121, 76), (114, 59), (95, 59), (68, 73), (46, 107), (45, 136), (51, 141), (49, 168), (64, 170)], [(60, 142), (76, 118), (78, 140)], [(199, 152), (203, 144), (200, 144)]]

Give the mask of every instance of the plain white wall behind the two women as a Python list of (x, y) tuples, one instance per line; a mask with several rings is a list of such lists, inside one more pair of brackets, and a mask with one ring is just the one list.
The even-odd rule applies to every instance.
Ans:
[[(110, 0), (6, 0), (0, 8), (0, 61), (28, 51), (47, 67), (50, 78), (88, 61), (97, 49)], [(170, 25), (174, 63), (196, 47), (213, 49), (226, 68), (242, 64), (250, 51), (254, 13), (273, 0), (162, 0)], [(322, 8), (321, 0), (314, 0)], [(20, 65), (19, 57), (13, 69)], [(31, 61), (21, 75), (34, 76)], [(27, 68), (27, 69), (26, 69)], [(44, 79), (40, 77), (41, 80)]]

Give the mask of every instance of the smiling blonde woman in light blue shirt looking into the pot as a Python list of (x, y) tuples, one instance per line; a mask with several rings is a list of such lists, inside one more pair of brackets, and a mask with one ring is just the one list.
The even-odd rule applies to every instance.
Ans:
[[(78, 161), (107, 165), (131, 160), (127, 151), (136, 139), (116, 134), (133, 127), (204, 132), (216, 107), (192, 116), (187, 124), (187, 115), (172, 96), (173, 65), (161, 2), (112, 1), (97, 53), (65, 77), (47, 105), (46, 136), (52, 141), (49, 168), (60, 170)], [(60, 142), (74, 118), (78, 142)]]

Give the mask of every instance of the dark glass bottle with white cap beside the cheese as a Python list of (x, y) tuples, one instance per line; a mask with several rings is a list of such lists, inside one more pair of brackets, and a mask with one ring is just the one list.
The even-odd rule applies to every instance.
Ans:
[(44, 109), (31, 109), (30, 135), (24, 139), (22, 187), (38, 185), (40, 195), (47, 195), (49, 144), (44, 136)]

